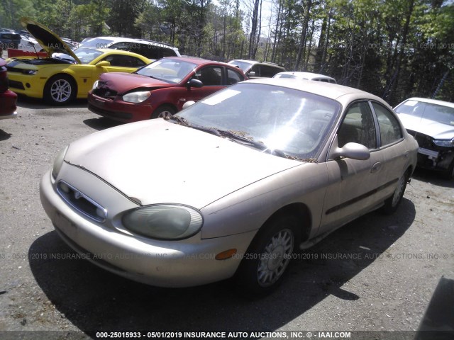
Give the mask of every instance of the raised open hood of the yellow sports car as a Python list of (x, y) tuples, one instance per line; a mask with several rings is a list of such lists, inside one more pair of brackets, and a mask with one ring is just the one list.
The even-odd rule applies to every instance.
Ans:
[(53, 33), (49, 28), (25, 17), (21, 18), (21, 25), (23, 28), (28, 30), (31, 35), (33, 35), (33, 38), (39, 42), (48, 55), (51, 56), (52, 53), (65, 53), (66, 55), (73, 57), (78, 64), (82, 64), (79, 58), (74, 55), (70, 46), (68, 46), (66, 42), (61, 40), (60, 37)]

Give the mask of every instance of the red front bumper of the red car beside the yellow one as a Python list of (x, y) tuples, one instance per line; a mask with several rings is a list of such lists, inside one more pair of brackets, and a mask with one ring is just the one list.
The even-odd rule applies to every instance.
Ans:
[(103, 117), (118, 120), (122, 123), (138, 122), (151, 118), (154, 108), (148, 103), (127, 103), (111, 98), (96, 96), (88, 93), (89, 111)]

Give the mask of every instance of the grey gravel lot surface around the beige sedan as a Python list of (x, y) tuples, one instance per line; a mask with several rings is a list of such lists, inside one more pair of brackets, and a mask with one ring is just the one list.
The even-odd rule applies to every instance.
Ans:
[(153, 288), (72, 259), (40, 205), (38, 183), (62, 147), (115, 125), (86, 107), (21, 100), (16, 120), (0, 120), (0, 339), (138, 330), (378, 331), (362, 334), (413, 339), (438, 282), (454, 279), (454, 181), (423, 171), (395, 215), (372, 212), (331, 234), (262, 300), (245, 300), (228, 281)]

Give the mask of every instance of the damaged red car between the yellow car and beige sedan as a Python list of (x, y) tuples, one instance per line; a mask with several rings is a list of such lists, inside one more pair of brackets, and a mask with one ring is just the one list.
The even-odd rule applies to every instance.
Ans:
[(133, 74), (104, 73), (88, 94), (89, 110), (121, 122), (169, 117), (247, 79), (238, 67), (196, 57), (166, 57)]

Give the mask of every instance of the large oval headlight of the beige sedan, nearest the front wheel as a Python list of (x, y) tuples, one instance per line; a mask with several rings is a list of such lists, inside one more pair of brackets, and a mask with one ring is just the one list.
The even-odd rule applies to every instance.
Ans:
[(123, 215), (123, 225), (153, 239), (187, 239), (199, 232), (204, 218), (184, 205), (148, 205)]

